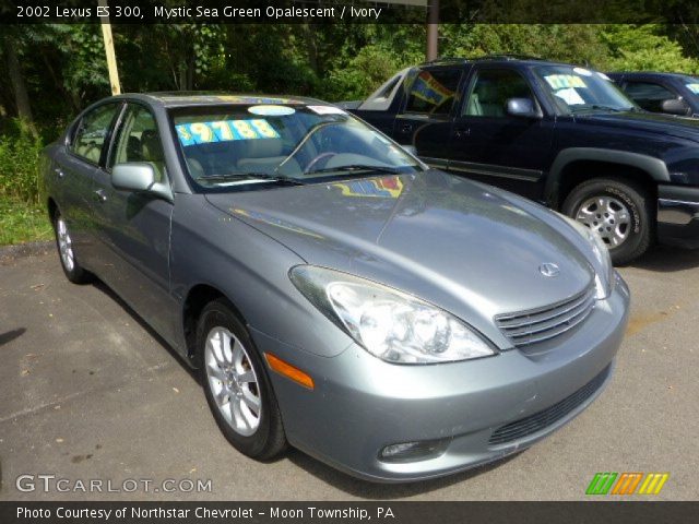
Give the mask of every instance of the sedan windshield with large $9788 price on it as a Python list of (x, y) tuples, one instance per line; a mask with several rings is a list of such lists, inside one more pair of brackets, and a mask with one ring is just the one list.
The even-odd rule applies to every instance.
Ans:
[(401, 146), (330, 105), (189, 107), (174, 110), (173, 122), (201, 191), (423, 170)]

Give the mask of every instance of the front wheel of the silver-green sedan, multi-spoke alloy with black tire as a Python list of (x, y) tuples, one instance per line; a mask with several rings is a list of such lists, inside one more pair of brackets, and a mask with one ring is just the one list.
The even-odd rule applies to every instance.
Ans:
[(228, 442), (259, 461), (280, 454), (286, 437), (274, 391), (252, 338), (226, 300), (203, 309), (197, 341), (206, 401)]

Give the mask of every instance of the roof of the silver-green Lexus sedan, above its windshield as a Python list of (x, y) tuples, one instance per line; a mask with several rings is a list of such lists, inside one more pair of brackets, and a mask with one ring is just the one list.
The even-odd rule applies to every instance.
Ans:
[(238, 94), (227, 92), (213, 91), (174, 91), (174, 92), (156, 92), (156, 93), (125, 93), (114, 98), (127, 98), (147, 102), (153, 105), (161, 105), (165, 108), (176, 107), (201, 107), (201, 106), (220, 106), (222, 104), (230, 105), (251, 105), (251, 104), (269, 104), (269, 105), (305, 105), (305, 104), (323, 104), (330, 103), (318, 100), (316, 98), (307, 98), (303, 96), (276, 96), (261, 94)]

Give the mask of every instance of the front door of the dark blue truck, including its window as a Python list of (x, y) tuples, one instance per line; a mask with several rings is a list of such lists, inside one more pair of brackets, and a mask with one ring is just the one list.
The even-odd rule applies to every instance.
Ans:
[(538, 100), (518, 70), (476, 66), (454, 119), (449, 170), (538, 199), (550, 163), (555, 120), (513, 117), (510, 98)]

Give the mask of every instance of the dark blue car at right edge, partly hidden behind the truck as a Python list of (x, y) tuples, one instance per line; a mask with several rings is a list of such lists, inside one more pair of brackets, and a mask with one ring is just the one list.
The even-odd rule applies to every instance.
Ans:
[(679, 73), (607, 73), (626, 96), (648, 111), (699, 116), (699, 79)]

